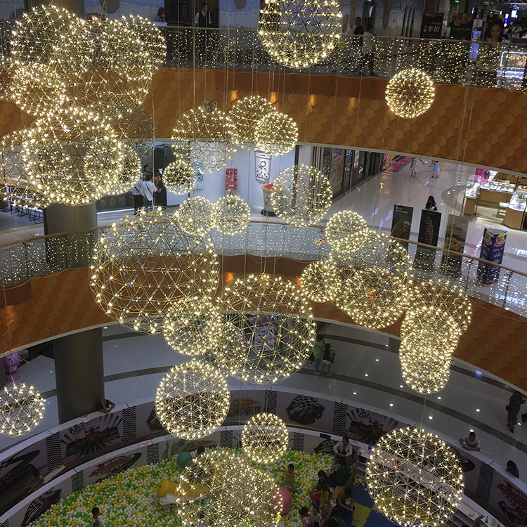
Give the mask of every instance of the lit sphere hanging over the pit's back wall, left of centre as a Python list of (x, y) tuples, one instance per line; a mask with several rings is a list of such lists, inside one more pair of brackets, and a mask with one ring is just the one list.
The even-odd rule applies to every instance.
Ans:
[(157, 419), (170, 434), (183, 439), (212, 434), (223, 424), (229, 406), (225, 377), (200, 360), (171, 367), (155, 393)]

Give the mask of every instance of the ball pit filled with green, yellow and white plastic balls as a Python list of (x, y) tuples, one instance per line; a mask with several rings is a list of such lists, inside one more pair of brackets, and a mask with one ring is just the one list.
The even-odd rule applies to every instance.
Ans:
[[(92, 507), (99, 507), (105, 516), (105, 527), (179, 527), (181, 519), (176, 514), (176, 507), (159, 505), (156, 494), (160, 480), (178, 478), (181, 469), (177, 460), (178, 457), (173, 456), (156, 464), (135, 467), (78, 490), (53, 505), (30, 525), (86, 527), (90, 524)], [(317, 481), (317, 472), (331, 466), (332, 455), (287, 450), (280, 460), (265, 465), (277, 486), (280, 486), (289, 463), (294, 464), (297, 473), (297, 493), (292, 495), (291, 512), (282, 521), (285, 527), (301, 527), (298, 511), (300, 507), (311, 510), (309, 491)]]

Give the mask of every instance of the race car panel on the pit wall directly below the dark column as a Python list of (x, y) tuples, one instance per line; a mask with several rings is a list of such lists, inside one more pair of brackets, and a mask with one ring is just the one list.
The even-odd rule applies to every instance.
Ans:
[(79, 421), (60, 431), (64, 464), (85, 455), (98, 453), (122, 441), (124, 440), (120, 411), (101, 414), (87, 422)]

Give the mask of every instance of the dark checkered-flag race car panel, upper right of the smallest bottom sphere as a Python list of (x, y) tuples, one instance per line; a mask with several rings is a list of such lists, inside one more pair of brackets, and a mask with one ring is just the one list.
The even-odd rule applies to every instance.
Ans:
[(331, 433), (334, 402), (320, 397), (294, 396), (278, 392), (276, 414), (292, 427), (311, 428)]

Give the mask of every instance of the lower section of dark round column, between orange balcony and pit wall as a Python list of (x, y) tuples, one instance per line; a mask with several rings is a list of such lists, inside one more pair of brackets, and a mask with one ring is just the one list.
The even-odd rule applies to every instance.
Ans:
[(95, 412), (104, 398), (103, 334), (100, 328), (53, 341), (58, 422)]

